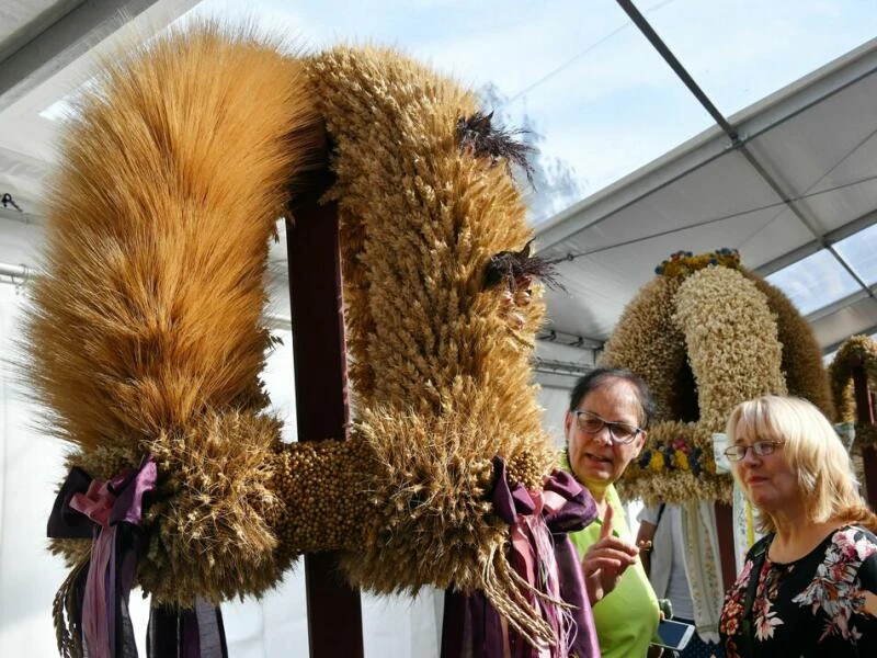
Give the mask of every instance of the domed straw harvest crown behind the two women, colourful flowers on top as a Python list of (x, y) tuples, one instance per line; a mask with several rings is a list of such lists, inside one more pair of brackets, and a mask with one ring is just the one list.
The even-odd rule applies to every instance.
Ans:
[[(618, 492), (647, 502), (727, 501), (731, 479), (716, 473), (713, 433), (760, 392), (823, 401), (819, 347), (790, 302), (742, 268), (736, 250), (676, 252), (658, 273), (627, 305), (601, 359), (640, 374), (658, 401)], [(809, 372), (799, 374), (800, 363)]]

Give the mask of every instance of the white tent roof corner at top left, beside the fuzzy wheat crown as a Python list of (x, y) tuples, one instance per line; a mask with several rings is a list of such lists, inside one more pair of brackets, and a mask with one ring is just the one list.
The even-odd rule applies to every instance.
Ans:
[[(11, 190), (22, 207), (38, 215), (58, 129), (46, 109), (86, 81), (91, 56), (137, 38), (135, 26), (139, 36), (152, 34), (195, 3), (0, 1), (0, 190)], [(5, 211), (0, 207), (0, 217), (22, 219)]]

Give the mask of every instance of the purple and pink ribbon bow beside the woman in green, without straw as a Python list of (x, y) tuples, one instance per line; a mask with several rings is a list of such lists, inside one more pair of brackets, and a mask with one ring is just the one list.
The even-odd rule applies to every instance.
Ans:
[(553, 651), (534, 648), (508, 628), (481, 592), (466, 597), (448, 589), (442, 658), (599, 657), (600, 646), (581, 566), (567, 536), (596, 518), (593, 498), (562, 470), (548, 476), (542, 492), (527, 491), (521, 484), (510, 487), (505, 463), (499, 457), (493, 460), (493, 476), (491, 500), (497, 515), (510, 525), (512, 567), (535, 589), (572, 605), (563, 612), (543, 598), (528, 597), (565, 646), (555, 647)]

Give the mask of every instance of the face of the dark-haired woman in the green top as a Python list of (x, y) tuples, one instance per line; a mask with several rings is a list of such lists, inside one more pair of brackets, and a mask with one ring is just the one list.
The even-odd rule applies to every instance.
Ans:
[[(584, 396), (577, 407), (603, 420), (623, 422), (634, 427), (642, 423), (642, 407), (636, 387), (625, 379), (610, 379), (596, 390)], [(563, 422), (569, 447), (569, 462), (576, 477), (589, 488), (604, 488), (617, 480), (627, 465), (642, 450), (646, 432), (639, 432), (627, 444), (616, 443), (607, 427), (589, 434), (581, 430), (576, 415), (567, 411)]]

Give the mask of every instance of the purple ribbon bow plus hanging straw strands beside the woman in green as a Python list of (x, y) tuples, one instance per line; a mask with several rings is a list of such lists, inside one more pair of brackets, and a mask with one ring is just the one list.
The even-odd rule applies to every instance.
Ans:
[(494, 458), (494, 513), (508, 542), (481, 560), (479, 590), (445, 594), (443, 658), (600, 656), (591, 605), (569, 532), (596, 517), (596, 506), (571, 476), (554, 472), (542, 490), (509, 485)]

